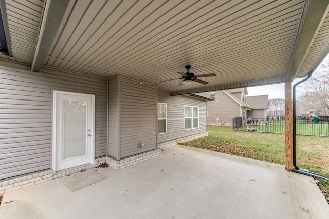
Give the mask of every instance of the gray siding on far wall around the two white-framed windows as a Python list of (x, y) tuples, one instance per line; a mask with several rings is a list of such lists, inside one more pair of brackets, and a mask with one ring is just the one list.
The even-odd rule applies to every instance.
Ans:
[[(167, 133), (158, 134), (159, 143), (207, 132), (206, 101), (189, 96), (170, 96), (170, 92), (159, 89), (158, 102), (167, 103)], [(199, 107), (199, 128), (184, 130), (185, 105)]]

